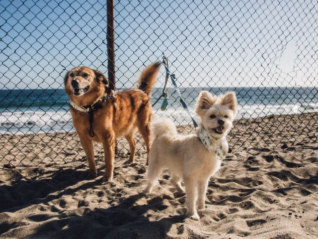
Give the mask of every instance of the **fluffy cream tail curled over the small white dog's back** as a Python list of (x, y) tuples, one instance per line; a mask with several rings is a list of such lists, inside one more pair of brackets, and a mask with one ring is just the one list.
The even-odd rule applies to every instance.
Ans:
[(166, 118), (154, 120), (151, 129), (153, 138), (163, 137), (171, 139), (178, 134), (173, 122)]

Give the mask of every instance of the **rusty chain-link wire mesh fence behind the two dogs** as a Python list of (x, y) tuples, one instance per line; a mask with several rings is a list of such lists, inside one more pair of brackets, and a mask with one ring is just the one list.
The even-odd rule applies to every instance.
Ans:
[[(317, 11), (311, 0), (116, 1), (116, 87), (134, 87), (164, 51), (193, 116), (202, 89), (236, 92), (232, 147), (316, 142)], [(79, 65), (107, 73), (106, 1), (1, 0), (0, 38), (2, 166), (84, 156), (63, 77)], [(152, 102), (163, 83), (162, 68)], [(193, 130), (173, 88), (168, 97), (167, 111), (158, 110), (161, 99), (155, 115), (174, 119), (183, 133)], [(124, 140), (119, 149), (128, 150)]]

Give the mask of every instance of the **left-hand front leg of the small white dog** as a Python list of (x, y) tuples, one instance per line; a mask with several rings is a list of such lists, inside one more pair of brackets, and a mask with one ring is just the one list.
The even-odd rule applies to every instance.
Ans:
[(195, 201), (197, 196), (196, 183), (191, 177), (185, 177), (184, 179), (185, 185), (185, 194), (186, 194), (186, 205), (187, 205), (187, 215), (193, 219), (198, 221), (200, 219), (197, 210), (195, 208)]

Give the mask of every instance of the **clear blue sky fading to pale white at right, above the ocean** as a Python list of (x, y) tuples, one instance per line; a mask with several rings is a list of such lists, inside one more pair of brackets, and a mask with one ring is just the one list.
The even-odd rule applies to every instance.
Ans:
[[(0, 90), (63, 88), (79, 65), (107, 75), (105, 2), (1, 0)], [(163, 51), (182, 87), (317, 86), (317, 11), (311, 0), (115, 0), (116, 87)]]

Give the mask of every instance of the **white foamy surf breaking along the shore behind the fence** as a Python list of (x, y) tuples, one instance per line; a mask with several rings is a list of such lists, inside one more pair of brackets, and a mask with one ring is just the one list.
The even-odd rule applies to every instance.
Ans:
[[(157, 106), (159, 108), (159, 105)], [(194, 109), (189, 107), (192, 117), (199, 121)], [(238, 106), (236, 119), (248, 119), (264, 117), (269, 115), (288, 115), (318, 112), (318, 104), (303, 103), (296, 105), (244, 105)], [(192, 123), (191, 118), (182, 107), (175, 109), (173, 106), (167, 107), (162, 112), (154, 107), (155, 117), (169, 117), (175, 124)], [(34, 133), (34, 132), (59, 132), (75, 130), (72, 116), (69, 111), (14, 111), (0, 113), (0, 133)]]

